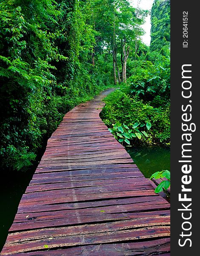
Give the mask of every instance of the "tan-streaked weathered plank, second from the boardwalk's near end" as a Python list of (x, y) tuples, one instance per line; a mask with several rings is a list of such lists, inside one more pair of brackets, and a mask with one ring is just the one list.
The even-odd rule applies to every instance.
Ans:
[(113, 232), (84, 234), (82, 236), (65, 236), (57, 239), (37, 239), (36, 241), (27, 241), (23, 243), (7, 243), (6, 251), (12, 253), (21, 253), (30, 250), (41, 250), (44, 244), (48, 243), (49, 248), (69, 247), (82, 244), (104, 244), (117, 241), (133, 241), (138, 239), (152, 239), (157, 237), (169, 236), (169, 227), (145, 227), (136, 230), (117, 230)]

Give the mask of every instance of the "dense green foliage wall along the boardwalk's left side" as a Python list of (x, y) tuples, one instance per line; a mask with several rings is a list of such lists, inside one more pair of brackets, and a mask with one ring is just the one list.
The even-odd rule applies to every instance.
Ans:
[(109, 86), (77, 0), (0, 2), (0, 161), (26, 170), (63, 115)]

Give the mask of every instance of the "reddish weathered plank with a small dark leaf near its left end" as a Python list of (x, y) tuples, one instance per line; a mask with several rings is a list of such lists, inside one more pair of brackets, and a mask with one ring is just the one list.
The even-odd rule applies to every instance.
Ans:
[[(117, 209), (119, 208), (119, 209)], [(38, 212), (29, 213), (29, 217), (26, 218), (26, 214), (17, 214), (14, 223), (12, 224), (9, 231), (19, 231), (19, 230), (31, 230), (41, 227), (62, 227), (74, 224), (89, 224), (95, 222), (105, 222), (105, 221), (118, 221), (118, 220), (128, 220), (134, 219), (139, 221), (143, 220), (143, 224), (146, 223), (146, 219), (151, 219), (154, 215), (159, 216), (163, 214), (164, 216), (169, 215), (169, 205), (159, 204), (158, 206), (154, 203), (140, 203), (140, 205), (124, 205), (123, 207), (110, 206), (98, 209), (83, 209), (83, 210), (63, 210), (57, 212)], [(101, 211), (105, 212), (101, 212)], [(153, 211), (157, 212), (143, 212), (143, 211)], [(163, 210), (163, 211), (162, 211)], [(139, 211), (139, 212), (138, 212)], [(141, 211), (141, 212), (140, 212)], [(91, 214), (90, 214), (91, 212)], [(25, 216), (26, 215), (26, 216)], [(168, 223), (169, 224), (169, 223)]]

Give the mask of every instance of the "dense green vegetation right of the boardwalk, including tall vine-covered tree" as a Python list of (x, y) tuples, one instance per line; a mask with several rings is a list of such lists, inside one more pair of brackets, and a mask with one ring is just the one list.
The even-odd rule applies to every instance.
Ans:
[(170, 145), (169, 0), (154, 0), (150, 47), (129, 38), (127, 52), (127, 82), (106, 97), (101, 116), (124, 145)]

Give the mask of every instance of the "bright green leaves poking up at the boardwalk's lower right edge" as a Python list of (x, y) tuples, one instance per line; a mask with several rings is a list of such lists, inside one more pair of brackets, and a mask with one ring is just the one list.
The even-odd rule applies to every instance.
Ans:
[(170, 172), (168, 170), (162, 170), (162, 172), (155, 172), (151, 175), (150, 179), (160, 179), (166, 178), (167, 180), (163, 180), (155, 189), (155, 193), (160, 193), (163, 189), (167, 190), (170, 186)]

